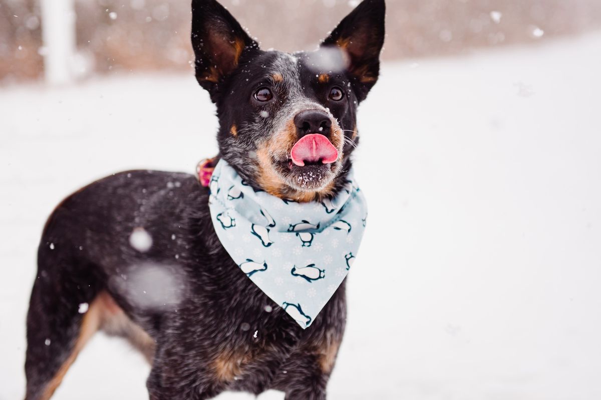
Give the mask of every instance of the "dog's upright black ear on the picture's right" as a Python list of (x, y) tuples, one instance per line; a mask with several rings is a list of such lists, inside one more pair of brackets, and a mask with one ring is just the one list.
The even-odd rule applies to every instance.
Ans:
[(322, 47), (338, 46), (345, 53), (347, 70), (360, 102), (380, 73), (385, 13), (384, 0), (363, 0), (322, 43)]

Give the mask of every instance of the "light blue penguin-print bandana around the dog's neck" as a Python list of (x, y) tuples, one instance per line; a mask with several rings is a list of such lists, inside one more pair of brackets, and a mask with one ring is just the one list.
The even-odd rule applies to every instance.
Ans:
[(297, 203), (255, 192), (225, 160), (211, 178), (209, 207), (221, 244), (303, 329), (349, 273), (361, 243), (367, 205), (348, 179), (335, 199)]

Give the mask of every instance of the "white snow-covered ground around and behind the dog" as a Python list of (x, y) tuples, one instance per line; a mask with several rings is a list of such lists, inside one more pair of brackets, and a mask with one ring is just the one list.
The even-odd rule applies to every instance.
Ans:
[[(385, 65), (359, 117), (370, 223), (331, 398), (601, 398), (600, 47)], [(216, 120), (192, 76), (2, 89), (0, 110), (0, 399), (14, 400), (47, 214), (111, 172), (194, 171)], [(56, 399), (145, 399), (147, 372), (97, 335)]]

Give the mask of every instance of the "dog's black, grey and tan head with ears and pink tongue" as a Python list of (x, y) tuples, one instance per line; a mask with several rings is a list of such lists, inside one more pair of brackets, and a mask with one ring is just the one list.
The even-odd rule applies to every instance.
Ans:
[(378, 78), (384, 0), (364, 0), (314, 52), (263, 51), (215, 0), (192, 1), (198, 83), (219, 117), (219, 156), (257, 189), (333, 195), (359, 141), (356, 109)]

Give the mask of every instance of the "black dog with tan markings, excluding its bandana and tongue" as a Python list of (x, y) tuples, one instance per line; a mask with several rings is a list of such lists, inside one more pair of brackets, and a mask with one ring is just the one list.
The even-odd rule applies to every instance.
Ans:
[[(379, 74), (384, 14), (383, 0), (365, 0), (318, 50), (291, 55), (260, 50), (215, 0), (194, 0), (196, 76), (217, 106), (219, 157), (280, 198), (335, 196), (358, 143), (356, 107)], [(317, 132), (338, 160), (291, 163), (294, 143)], [(267, 389), (325, 399), (346, 320), (344, 283), (302, 330), (221, 246), (208, 200), (192, 175), (130, 171), (56, 208), (27, 317), (26, 399), (49, 399), (97, 330), (145, 354), (153, 400)]]

